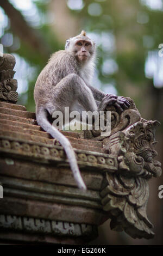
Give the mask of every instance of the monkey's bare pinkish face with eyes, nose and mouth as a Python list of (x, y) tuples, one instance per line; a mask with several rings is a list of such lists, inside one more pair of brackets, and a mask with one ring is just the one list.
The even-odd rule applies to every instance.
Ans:
[(89, 60), (94, 52), (94, 45), (91, 40), (76, 40), (74, 41), (74, 57), (78, 62), (85, 63)]

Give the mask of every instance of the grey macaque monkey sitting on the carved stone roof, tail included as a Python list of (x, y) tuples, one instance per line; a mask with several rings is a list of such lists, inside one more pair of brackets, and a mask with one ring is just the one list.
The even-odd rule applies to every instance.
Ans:
[(43, 130), (58, 139), (70, 162), (79, 188), (86, 190), (80, 175), (74, 150), (68, 139), (52, 126), (48, 117), (65, 107), (71, 111), (104, 111), (107, 105), (127, 109), (130, 103), (124, 97), (105, 94), (90, 85), (95, 68), (96, 47), (86, 32), (66, 41), (65, 50), (55, 52), (37, 78), (34, 90), (36, 120)]

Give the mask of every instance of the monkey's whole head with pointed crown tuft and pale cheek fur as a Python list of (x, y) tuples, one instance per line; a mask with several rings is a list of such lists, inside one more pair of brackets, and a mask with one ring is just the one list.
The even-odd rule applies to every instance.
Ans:
[(96, 47), (95, 42), (82, 31), (79, 35), (66, 40), (65, 50), (71, 52), (79, 63), (85, 63), (95, 56)]

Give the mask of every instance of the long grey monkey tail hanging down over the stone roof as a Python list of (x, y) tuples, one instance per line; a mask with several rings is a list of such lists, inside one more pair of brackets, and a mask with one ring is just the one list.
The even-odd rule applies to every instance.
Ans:
[(48, 132), (53, 138), (58, 139), (62, 147), (64, 147), (71, 170), (73, 172), (74, 179), (76, 180), (78, 187), (86, 190), (85, 183), (78, 168), (76, 155), (68, 139), (62, 135), (62, 133), (59, 132), (54, 126), (52, 126), (51, 123), (49, 123), (46, 109), (39, 109), (39, 111), (36, 111), (36, 119), (37, 123), (42, 127), (42, 129)]

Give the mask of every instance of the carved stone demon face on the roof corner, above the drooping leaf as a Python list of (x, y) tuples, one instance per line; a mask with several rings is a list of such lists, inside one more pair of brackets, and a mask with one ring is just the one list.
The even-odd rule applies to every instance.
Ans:
[(155, 129), (158, 121), (139, 121), (131, 125), (121, 135), (120, 169), (129, 175), (141, 175), (144, 178), (161, 175), (161, 163), (153, 158), (157, 155), (154, 150)]

